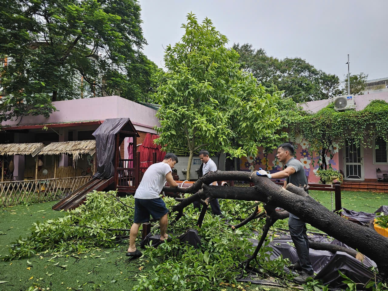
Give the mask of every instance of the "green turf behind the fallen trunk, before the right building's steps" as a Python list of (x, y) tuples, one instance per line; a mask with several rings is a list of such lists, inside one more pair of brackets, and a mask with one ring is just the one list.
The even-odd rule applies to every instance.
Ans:
[[(334, 191), (315, 190), (308, 192), (311, 197), (314, 197), (329, 210), (332, 210), (331, 195), (333, 195), (333, 208), (335, 208)], [(388, 193), (341, 191), (341, 204), (343, 208), (348, 210), (374, 213), (381, 205), (388, 205)]]

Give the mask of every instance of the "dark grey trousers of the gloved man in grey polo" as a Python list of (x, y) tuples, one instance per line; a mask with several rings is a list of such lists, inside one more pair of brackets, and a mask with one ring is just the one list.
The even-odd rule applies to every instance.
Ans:
[(299, 257), (299, 263), (303, 271), (309, 275), (314, 274), (314, 270), (311, 266), (309, 244), (307, 239), (306, 223), (295, 215), (289, 215), (288, 227), (290, 230), (290, 236), (294, 242), (296, 253)]

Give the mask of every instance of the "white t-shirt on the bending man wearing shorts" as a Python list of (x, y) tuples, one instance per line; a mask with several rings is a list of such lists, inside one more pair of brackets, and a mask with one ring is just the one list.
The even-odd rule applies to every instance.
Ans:
[(149, 166), (144, 173), (139, 187), (136, 189), (135, 198), (159, 198), (159, 194), (166, 182), (166, 175), (171, 171), (171, 167), (167, 163), (163, 162)]

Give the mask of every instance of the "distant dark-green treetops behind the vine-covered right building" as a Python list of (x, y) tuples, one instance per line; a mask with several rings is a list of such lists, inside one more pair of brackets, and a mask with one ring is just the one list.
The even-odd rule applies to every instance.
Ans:
[(263, 49), (253, 49), (249, 43), (233, 45), (242, 68), (265, 87), (277, 86), (284, 97), (295, 102), (322, 100), (341, 94), (340, 80), (334, 74), (317, 70), (301, 58), (283, 60), (267, 55)]

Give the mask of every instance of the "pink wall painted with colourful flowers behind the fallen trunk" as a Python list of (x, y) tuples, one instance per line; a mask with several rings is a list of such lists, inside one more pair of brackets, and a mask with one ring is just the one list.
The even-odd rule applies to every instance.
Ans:
[[(303, 139), (296, 139), (293, 143), (295, 147), (294, 157), (298, 159), (303, 165), (307, 180), (309, 183), (319, 183), (319, 178), (315, 176), (315, 172), (319, 169), (322, 164), (322, 160), (319, 152), (308, 151), (308, 142)], [(339, 159), (338, 159), (338, 147), (334, 147), (333, 159), (326, 157), (327, 168), (333, 168), (338, 170)], [(283, 165), (276, 158), (276, 149), (273, 152), (265, 152), (263, 148), (259, 148), (258, 155), (256, 157), (242, 157), (240, 159), (240, 170), (242, 171), (256, 171), (262, 168), (263, 170), (283, 170)]]

